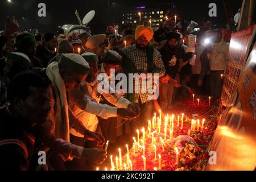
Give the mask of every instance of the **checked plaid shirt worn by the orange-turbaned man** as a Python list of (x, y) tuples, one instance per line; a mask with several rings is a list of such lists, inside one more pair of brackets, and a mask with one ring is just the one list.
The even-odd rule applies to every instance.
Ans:
[[(137, 71), (139, 73), (149, 73), (147, 71), (147, 55), (146, 51), (140, 51), (137, 49), (136, 45), (134, 44), (133, 46), (126, 47), (123, 49), (123, 52), (129, 57), (131, 61), (133, 61), (133, 64), (137, 68)], [(164, 64), (160, 55), (160, 52), (156, 51), (154, 49), (154, 54), (153, 54), (153, 65), (154, 65), (154, 70), (151, 72), (153, 73), (153, 78), (154, 78), (154, 73), (159, 74), (159, 78), (164, 76), (165, 69), (164, 69)], [(123, 68), (125, 69), (125, 68)], [(150, 79), (151, 80), (151, 79)], [(152, 80), (152, 84), (154, 84)], [(150, 82), (149, 82), (150, 83)], [(148, 92), (147, 90), (147, 81), (139, 81), (139, 85), (136, 81), (134, 81), (134, 91), (137, 90), (139, 92), (134, 93), (134, 101), (135, 103), (139, 103), (139, 98), (141, 98), (142, 104), (151, 101), (153, 99), (153, 93)], [(139, 90), (138, 90), (139, 89)], [(154, 88), (153, 88), (154, 89)], [(143, 92), (143, 90), (147, 90), (147, 92)]]

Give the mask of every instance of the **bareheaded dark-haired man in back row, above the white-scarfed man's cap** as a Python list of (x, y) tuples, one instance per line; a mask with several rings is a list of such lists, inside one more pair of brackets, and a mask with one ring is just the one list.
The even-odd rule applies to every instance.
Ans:
[(42, 61), (44, 68), (56, 56), (55, 48), (57, 48), (56, 35), (53, 32), (45, 32), (42, 36), (42, 44), (36, 48), (36, 57)]

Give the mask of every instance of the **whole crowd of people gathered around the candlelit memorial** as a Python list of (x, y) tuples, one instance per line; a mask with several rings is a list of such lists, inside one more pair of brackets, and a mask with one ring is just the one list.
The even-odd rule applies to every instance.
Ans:
[[(106, 140), (127, 142), (147, 127), (151, 113), (167, 113), (188, 96), (188, 88), (220, 98), (230, 35), (210, 30), (209, 23), (193, 32), (198, 24), (184, 22), (168, 17), (155, 32), (141, 21), (135, 29), (119, 28), (120, 34), (109, 26), (105, 34), (69, 36), (17, 34), (18, 22), (9, 19), (0, 35), (0, 168), (91, 170), (107, 158)], [(195, 52), (187, 51), (188, 34), (197, 35)], [(110, 78), (112, 69), (146, 73), (146, 80), (158, 74), (159, 98), (118, 94), (111, 86), (113, 92), (100, 92), (98, 75)], [(111, 81), (106, 84), (118, 84)], [(143, 87), (137, 84), (134, 90)], [(44, 164), (38, 163), (40, 151), (46, 152)]]

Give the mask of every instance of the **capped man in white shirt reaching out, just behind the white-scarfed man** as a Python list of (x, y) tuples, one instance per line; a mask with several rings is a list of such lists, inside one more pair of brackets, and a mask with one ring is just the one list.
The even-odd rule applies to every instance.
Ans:
[[(134, 117), (135, 113), (131, 109), (133, 108), (133, 104), (131, 104), (130, 101), (122, 98), (118, 94), (100, 94), (98, 92), (98, 85), (100, 84), (100, 82), (97, 80), (98, 56), (94, 53), (86, 52), (82, 54), (82, 57), (88, 61), (90, 65), (90, 72), (86, 77), (86, 80), (82, 82), (81, 88), (74, 89), (69, 93), (69, 99), (71, 101), (69, 107), (71, 107), (76, 117), (80, 118), (86, 129), (90, 131), (101, 130), (97, 116), (105, 119), (117, 116), (126, 119)], [(99, 102), (102, 100), (102, 96), (104, 96), (104, 98), (114, 106), (99, 104)], [(86, 100), (90, 102), (90, 104), (86, 103)], [(108, 121), (105, 120), (105, 122)], [(115, 123), (110, 123), (110, 125), (114, 126)], [(77, 131), (74, 129), (71, 129), (70, 133), (72, 143), (75, 143), (79, 146), (93, 147), (93, 144), (90, 142), (85, 143), (84, 136), (77, 133)], [(71, 168), (76, 167), (77, 169), (85, 169), (79, 160), (75, 159), (71, 163), (71, 166), (69, 166)]]

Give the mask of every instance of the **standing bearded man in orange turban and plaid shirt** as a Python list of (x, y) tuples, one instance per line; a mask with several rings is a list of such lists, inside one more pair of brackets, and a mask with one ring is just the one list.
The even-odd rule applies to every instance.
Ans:
[[(143, 80), (151, 78), (147, 73), (152, 73), (152, 78), (149, 79), (150, 81), (135, 81), (134, 83), (134, 102), (141, 107), (141, 117), (135, 119), (135, 125), (137, 126), (146, 126), (153, 110), (152, 100), (154, 93), (150, 92), (150, 90), (146, 90), (147, 84), (154, 84), (152, 80), (154, 80), (155, 74), (162, 77), (165, 73), (160, 53), (149, 44), (153, 35), (154, 32), (152, 28), (138, 26), (135, 31), (136, 44), (123, 49), (123, 53), (125, 53), (134, 64), (134, 73), (138, 73), (139, 75), (145, 73), (146, 78), (143, 78)], [(157, 77), (157, 75), (155, 76)]]

